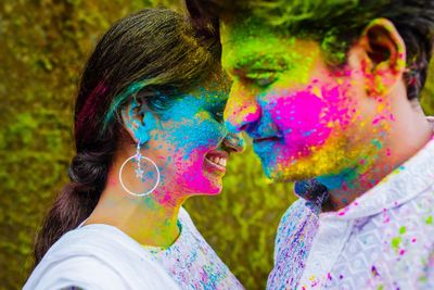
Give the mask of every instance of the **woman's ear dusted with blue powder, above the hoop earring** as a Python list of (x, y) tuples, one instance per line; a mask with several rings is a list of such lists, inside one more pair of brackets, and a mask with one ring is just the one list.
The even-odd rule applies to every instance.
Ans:
[[(145, 117), (146, 110), (143, 106), (143, 103), (132, 98), (122, 110), (124, 128), (131, 136), (132, 140), (141, 143), (149, 141), (150, 131), (152, 130), (151, 124), (146, 124), (150, 123), (150, 119)], [(151, 113), (149, 112), (149, 114)]]

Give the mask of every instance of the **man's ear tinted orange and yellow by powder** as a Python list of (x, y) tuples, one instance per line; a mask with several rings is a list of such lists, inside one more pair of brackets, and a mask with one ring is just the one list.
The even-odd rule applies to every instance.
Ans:
[(395, 25), (386, 18), (372, 21), (359, 38), (361, 68), (368, 94), (384, 96), (403, 78), (406, 45)]

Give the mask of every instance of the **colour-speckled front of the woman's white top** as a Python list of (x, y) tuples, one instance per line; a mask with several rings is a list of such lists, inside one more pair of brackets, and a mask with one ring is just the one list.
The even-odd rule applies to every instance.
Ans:
[(181, 289), (244, 289), (196, 230), (189, 214), (179, 214), (181, 234), (168, 249), (144, 247)]

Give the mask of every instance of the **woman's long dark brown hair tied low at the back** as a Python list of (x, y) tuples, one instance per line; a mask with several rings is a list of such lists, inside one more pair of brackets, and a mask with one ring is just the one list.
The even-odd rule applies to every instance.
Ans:
[(135, 96), (156, 113), (220, 74), (220, 46), (206, 28), (166, 9), (122, 18), (101, 38), (81, 76), (74, 115), (76, 155), (35, 242), (35, 265), (95, 207), (125, 135), (120, 110)]

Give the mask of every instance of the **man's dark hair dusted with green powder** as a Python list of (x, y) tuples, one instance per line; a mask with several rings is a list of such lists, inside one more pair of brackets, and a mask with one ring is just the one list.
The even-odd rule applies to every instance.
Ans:
[[(252, 15), (292, 36), (314, 39), (327, 61), (343, 64), (346, 52), (374, 18), (390, 20), (407, 50), (404, 79), (409, 100), (417, 99), (425, 84), (434, 36), (433, 0), (186, 0), (197, 27), (218, 20), (234, 22)], [(203, 28), (202, 28), (203, 29)], [(217, 30), (218, 31), (218, 30)]]

